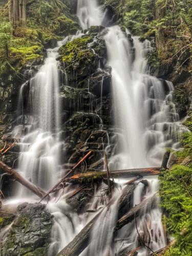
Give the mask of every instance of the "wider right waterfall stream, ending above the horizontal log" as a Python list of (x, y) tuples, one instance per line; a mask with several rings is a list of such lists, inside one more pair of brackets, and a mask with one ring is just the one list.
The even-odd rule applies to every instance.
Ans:
[(183, 129), (172, 102), (173, 84), (147, 74), (150, 41), (133, 39), (131, 46), (118, 26), (105, 36), (119, 135), (118, 154), (111, 159), (116, 169), (160, 166), (165, 148), (177, 147)]

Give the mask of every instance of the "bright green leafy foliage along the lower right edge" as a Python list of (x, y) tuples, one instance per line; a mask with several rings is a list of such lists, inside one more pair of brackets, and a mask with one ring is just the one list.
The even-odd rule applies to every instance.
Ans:
[(164, 255), (190, 256), (192, 252), (192, 121), (185, 121), (189, 132), (184, 134), (179, 162), (160, 176), (161, 205), (166, 210), (167, 230), (177, 239)]

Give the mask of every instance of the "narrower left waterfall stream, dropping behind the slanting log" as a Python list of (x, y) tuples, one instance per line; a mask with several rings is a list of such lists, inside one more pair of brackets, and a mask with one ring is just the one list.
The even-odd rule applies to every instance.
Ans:
[[(56, 60), (58, 48), (47, 50), (45, 64), (31, 78), (28, 95), (28, 131), (20, 142), (21, 153), (18, 170), (33, 184), (47, 190), (58, 179), (59, 174), (59, 142), (60, 102), (59, 74)], [(23, 99), (24, 88), (20, 91)], [(24, 113), (23, 102), (19, 103)], [(53, 172), (55, 170), (55, 172)], [(20, 187), (18, 195), (26, 189)], [(27, 193), (27, 191), (26, 191)], [(26, 194), (28, 195), (28, 194)]]

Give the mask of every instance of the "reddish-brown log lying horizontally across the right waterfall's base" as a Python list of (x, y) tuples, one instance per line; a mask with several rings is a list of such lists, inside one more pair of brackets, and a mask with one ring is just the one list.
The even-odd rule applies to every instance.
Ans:
[[(127, 170), (112, 170), (109, 175), (110, 178), (113, 177), (132, 177), (132, 176), (149, 176), (149, 175), (159, 175), (161, 167), (152, 168), (138, 168), (138, 169), (127, 169)], [(87, 172), (75, 174), (68, 179), (66, 182), (78, 183), (78, 182), (90, 182), (96, 179), (106, 178), (108, 176), (107, 172)]]

